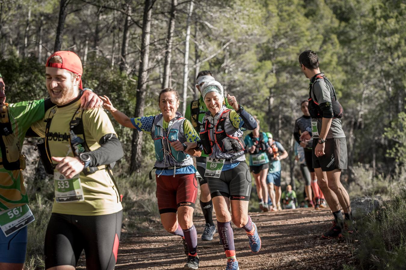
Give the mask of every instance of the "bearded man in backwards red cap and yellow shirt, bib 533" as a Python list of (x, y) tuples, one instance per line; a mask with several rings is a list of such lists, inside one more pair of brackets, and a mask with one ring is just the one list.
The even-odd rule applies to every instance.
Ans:
[(70, 51), (47, 60), (46, 87), (56, 104), (31, 126), (45, 138), (43, 163), (54, 175), (55, 200), (45, 234), (45, 269), (114, 269), (122, 206), (110, 164), (123, 148), (102, 108), (80, 108), (82, 63)]

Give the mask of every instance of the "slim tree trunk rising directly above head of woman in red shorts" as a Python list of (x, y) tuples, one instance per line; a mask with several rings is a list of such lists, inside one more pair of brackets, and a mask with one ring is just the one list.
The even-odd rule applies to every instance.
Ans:
[(168, 36), (166, 37), (164, 74), (162, 75), (162, 89), (169, 87), (169, 74), (171, 73), (173, 32), (175, 31), (175, 21), (176, 21), (175, 20), (176, 6), (177, 6), (177, 0), (172, 0), (171, 18), (169, 19)]

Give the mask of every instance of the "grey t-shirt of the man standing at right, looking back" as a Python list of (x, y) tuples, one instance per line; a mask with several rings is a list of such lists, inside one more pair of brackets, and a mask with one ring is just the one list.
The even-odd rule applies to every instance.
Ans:
[[(313, 100), (317, 100), (318, 104), (322, 104), (325, 102), (331, 102), (331, 92), (330, 87), (324, 81), (324, 79), (317, 78), (317, 80), (313, 83), (313, 91), (311, 91), (311, 98)], [(322, 130), (322, 118), (316, 119), (313, 118), (312, 121), (317, 120), (317, 130)], [(318, 138), (318, 136), (313, 136), (314, 138)], [(330, 138), (345, 138), (346, 134), (344, 134), (343, 126), (341, 124), (341, 119), (333, 118), (331, 122), (330, 130), (327, 133), (327, 139)]]

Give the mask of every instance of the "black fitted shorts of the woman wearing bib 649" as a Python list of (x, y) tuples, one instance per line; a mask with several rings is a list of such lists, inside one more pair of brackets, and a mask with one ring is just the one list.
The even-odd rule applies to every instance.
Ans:
[(224, 196), (230, 200), (250, 200), (251, 173), (245, 161), (231, 170), (222, 171), (220, 178), (207, 177), (207, 180), (212, 198)]

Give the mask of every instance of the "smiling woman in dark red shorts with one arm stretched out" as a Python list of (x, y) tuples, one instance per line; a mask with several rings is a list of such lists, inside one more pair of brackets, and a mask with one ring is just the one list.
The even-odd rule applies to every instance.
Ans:
[[(127, 117), (114, 108), (108, 97), (104, 108), (121, 125), (151, 134), (154, 141), (158, 208), (165, 230), (183, 238), (188, 261), (185, 269), (198, 269), (197, 233), (193, 225), (197, 199), (196, 169), (191, 156), (201, 155), (200, 139), (189, 120), (180, 113), (179, 94), (165, 88), (159, 94), (159, 115)], [(199, 145), (198, 145), (199, 144)]]

